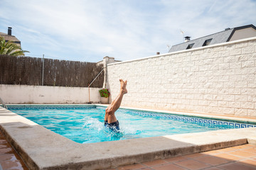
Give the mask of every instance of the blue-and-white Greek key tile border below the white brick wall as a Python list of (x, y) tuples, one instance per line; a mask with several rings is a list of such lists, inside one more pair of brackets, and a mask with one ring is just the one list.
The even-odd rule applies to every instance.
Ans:
[(171, 114), (164, 114), (164, 113), (146, 113), (144, 111), (134, 111), (137, 115), (142, 115), (146, 117), (153, 117), (153, 118), (161, 118), (161, 119), (169, 119), (169, 120), (176, 120), (184, 123), (196, 123), (199, 125), (213, 127), (213, 126), (230, 126), (229, 128), (256, 128), (256, 125), (247, 124), (247, 123), (237, 123), (232, 121), (225, 121), (225, 120), (210, 120), (206, 118), (198, 118), (198, 117), (187, 117), (181, 115), (171, 115)]

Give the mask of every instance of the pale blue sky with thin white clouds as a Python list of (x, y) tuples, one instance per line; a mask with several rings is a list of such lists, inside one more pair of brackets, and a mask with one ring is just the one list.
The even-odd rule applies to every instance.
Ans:
[(151, 57), (183, 36), (249, 24), (256, 0), (0, 0), (0, 32), (11, 27), (26, 56), (57, 60)]

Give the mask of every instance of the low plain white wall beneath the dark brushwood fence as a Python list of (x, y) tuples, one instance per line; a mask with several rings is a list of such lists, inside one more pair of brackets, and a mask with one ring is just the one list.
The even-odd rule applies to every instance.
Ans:
[[(100, 102), (100, 88), (90, 88), (90, 102)], [(26, 86), (0, 84), (5, 103), (87, 103), (88, 88), (61, 86)]]

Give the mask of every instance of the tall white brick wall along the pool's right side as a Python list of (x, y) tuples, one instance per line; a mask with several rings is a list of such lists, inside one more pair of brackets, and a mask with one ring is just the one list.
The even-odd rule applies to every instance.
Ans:
[(256, 38), (109, 64), (122, 106), (256, 117)]

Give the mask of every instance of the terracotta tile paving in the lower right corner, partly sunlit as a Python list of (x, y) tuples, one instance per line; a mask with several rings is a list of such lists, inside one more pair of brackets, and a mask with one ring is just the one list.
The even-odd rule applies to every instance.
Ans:
[(247, 144), (209, 152), (188, 154), (108, 170), (252, 170), (256, 169), (256, 145)]

